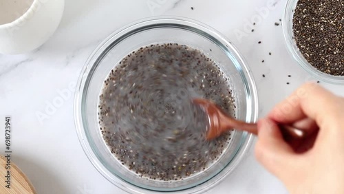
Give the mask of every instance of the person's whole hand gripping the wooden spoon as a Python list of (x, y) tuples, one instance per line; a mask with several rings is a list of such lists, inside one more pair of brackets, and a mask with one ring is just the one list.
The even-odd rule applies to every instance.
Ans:
[[(278, 124), (309, 133), (303, 142), (283, 140)], [(314, 130), (319, 127), (319, 131)], [(257, 160), (290, 193), (344, 193), (344, 98), (309, 83), (258, 123)]]

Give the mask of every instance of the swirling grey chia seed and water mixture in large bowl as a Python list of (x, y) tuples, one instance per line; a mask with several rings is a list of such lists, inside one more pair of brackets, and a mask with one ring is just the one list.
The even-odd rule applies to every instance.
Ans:
[(207, 169), (230, 133), (206, 141), (206, 115), (192, 98), (211, 99), (235, 116), (228, 78), (199, 50), (150, 45), (123, 58), (105, 80), (98, 107), (111, 153), (151, 180), (182, 180)]

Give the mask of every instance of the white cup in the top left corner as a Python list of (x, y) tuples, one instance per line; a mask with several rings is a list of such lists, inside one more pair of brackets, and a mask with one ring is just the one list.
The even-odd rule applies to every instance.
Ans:
[(12, 3), (3, 4), (0, 14), (2, 54), (22, 54), (43, 45), (56, 31), (65, 7), (65, 0), (0, 0), (0, 6), (6, 1)]

